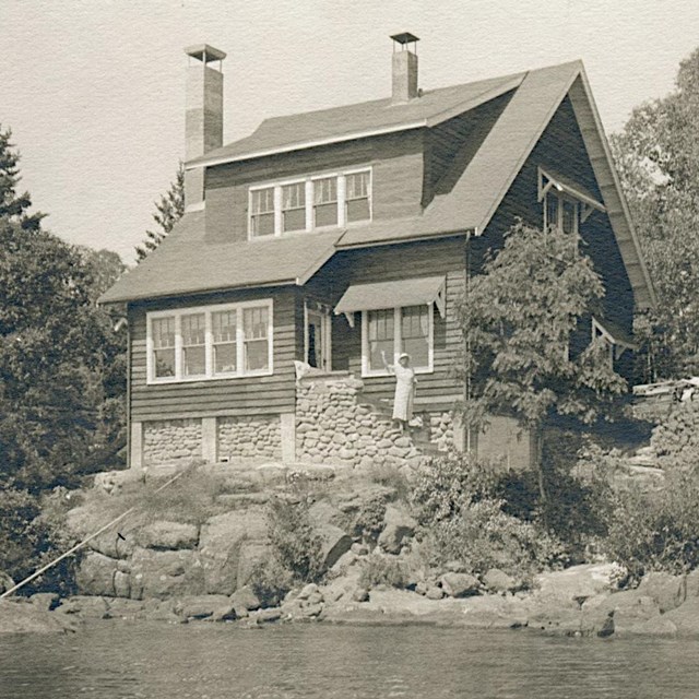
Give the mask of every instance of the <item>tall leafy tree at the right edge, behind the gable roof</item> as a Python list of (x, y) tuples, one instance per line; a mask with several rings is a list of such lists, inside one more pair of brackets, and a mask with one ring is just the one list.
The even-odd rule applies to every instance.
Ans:
[(675, 90), (633, 109), (611, 139), (659, 297), (642, 324), (644, 378), (699, 371), (699, 49)]

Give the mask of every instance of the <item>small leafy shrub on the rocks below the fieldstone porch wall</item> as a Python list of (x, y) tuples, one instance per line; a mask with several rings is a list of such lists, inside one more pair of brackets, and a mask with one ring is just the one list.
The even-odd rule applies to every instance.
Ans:
[(322, 540), (316, 532), (305, 500), (270, 500), (268, 529), (275, 558), (295, 580), (317, 582), (322, 576)]

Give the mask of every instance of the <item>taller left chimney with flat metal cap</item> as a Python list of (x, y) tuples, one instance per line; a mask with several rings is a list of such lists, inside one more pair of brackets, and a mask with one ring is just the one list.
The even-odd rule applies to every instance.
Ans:
[[(223, 145), (223, 59), (226, 55), (198, 44), (185, 49), (187, 68), (187, 106), (185, 116), (185, 161), (192, 161)], [(217, 61), (212, 68), (209, 63)], [(185, 203), (201, 208), (204, 201), (204, 168), (185, 171)]]

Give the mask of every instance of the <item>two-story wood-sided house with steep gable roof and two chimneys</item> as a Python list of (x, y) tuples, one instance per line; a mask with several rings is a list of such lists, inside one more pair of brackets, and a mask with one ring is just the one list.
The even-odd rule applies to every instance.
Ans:
[[(225, 54), (189, 55), (186, 213), (102, 298), (126, 304), (130, 464), (410, 463), (425, 445), (525, 462), (506, 418), (466, 435), (454, 304), (519, 217), (587, 242), (616, 362), (653, 289), (581, 62), (419, 90), (393, 37), (384, 99), (270, 118), (223, 144)], [(412, 357), (417, 437), (384, 410)]]

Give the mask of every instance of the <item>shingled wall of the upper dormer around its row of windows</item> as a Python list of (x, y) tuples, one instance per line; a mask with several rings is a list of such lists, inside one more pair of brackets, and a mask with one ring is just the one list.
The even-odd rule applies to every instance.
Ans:
[(417, 215), (423, 187), (423, 139), (417, 131), (230, 163), (206, 170), (206, 237), (248, 239), (248, 188), (268, 181), (372, 168), (374, 220)]

